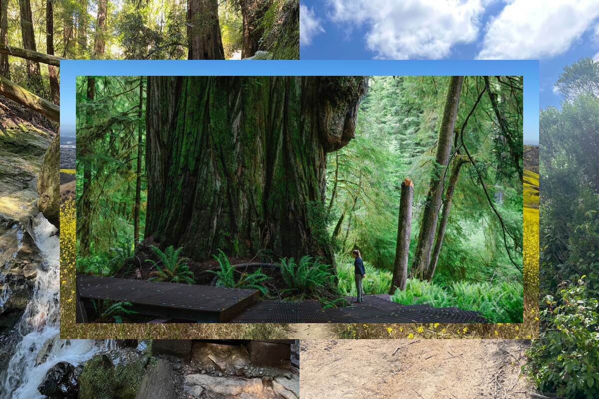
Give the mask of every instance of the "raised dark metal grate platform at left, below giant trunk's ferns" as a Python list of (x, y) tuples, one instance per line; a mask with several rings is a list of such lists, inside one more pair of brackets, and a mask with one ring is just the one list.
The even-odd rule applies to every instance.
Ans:
[(129, 301), (144, 314), (212, 322), (228, 321), (258, 297), (256, 290), (96, 276), (77, 276), (77, 293), (82, 299)]

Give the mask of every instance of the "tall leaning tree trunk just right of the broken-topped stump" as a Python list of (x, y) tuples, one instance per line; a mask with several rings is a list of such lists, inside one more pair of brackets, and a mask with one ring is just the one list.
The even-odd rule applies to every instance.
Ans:
[(441, 208), (441, 200), (443, 198), (443, 179), (447, 163), (449, 163), (449, 153), (453, 141), (453, 127), (456, 115), (458, 114), (462, 81), (464, 81), (464, 77), (462, 76), (452, 76), (449, 79), (449, 89), (447, 90), (447, 99), (445, 100), (443, 119), (441, 120), (437, 140), (435, 169), (431, 176), (428, 194), (426, 194), (418, 244), (416, 245), (414, 260), (412, 261), (412, 274), (419, 279), (422, 279), (426, 275), (426, 269), (431, 260), (432, 242), (435, 239), (438, 211)]

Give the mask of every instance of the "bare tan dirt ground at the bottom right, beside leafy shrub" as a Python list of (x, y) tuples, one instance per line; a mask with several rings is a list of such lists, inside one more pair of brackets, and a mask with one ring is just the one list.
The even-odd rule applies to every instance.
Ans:
[[(521, 340), (302, 340), (302, 399), (524, 399)], [(394, 354), (395, 352), (395, 354)]]

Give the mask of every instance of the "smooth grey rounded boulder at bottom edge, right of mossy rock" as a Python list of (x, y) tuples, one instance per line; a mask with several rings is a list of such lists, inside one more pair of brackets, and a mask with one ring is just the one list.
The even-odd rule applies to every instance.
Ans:
[(176, 380), (168, 361), (159, 359), (146, 370), (135, 399), (177, 399)]

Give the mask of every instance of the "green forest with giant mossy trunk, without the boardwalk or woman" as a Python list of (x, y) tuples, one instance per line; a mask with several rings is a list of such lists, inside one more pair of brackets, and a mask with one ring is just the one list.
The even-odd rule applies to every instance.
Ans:
[(77, 77), (77, 271), (520, 322), (522, 148), (521, 77)]

